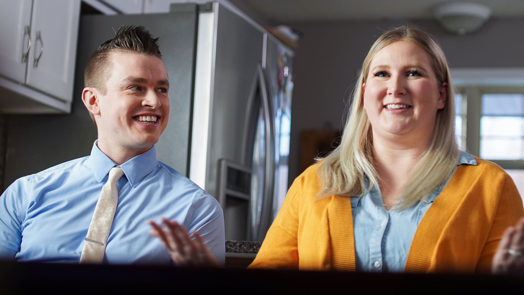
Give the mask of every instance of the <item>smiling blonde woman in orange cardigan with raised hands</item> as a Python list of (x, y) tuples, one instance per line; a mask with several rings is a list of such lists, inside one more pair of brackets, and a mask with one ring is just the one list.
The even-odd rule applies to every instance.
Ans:
[[(430, 35), (400, 27), (380, 36), (364, 60), (340, 146), (294, 181), (250, 267), (491, 271), (504, 231), (524, 215), (522, 202), (504, 170), (457, 149), (453, 91)], [(156, 226), (152, 234), (180, 263), (198, 255), (177, 249), (202, 252), (165, 223), (171, 231)], [(513, 241), (522, 231), (524, 224), (506, 236)], [(494, 270), (514, 264), (506, 253), (521, 254), (502, 244)]]

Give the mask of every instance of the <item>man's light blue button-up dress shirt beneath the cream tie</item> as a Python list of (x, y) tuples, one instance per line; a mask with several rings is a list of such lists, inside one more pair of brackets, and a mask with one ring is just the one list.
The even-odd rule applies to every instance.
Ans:
[[(77, 263), (102, 186), (118, 166), (93, 144), (90, 156), (21, 177), (0, 197), (0, 259)], [(120, 165), (118, 204), (104, 264), (169, 265), (146, 220), (197, 230), (221, 265), (224, 217), (214, 197), (157, 161), (155, 146)]]

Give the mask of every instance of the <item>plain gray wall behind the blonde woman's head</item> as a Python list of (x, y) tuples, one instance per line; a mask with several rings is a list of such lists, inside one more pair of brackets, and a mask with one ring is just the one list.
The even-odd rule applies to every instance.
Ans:
[[(375, 39), (398, 21), (289, 23), (304, 37), (294, 58), (289, 184), (300, 173), (300, 132), (320, 129), (326, 121), (343, 128), (344, 101)], [(524, 67), (524, 18), (492, 19), (466, 36), (446, 33), (433, 21), (409, 22), (441, 44), (451, 67)], [(344, 110), (344, 111), (343, 111)]]

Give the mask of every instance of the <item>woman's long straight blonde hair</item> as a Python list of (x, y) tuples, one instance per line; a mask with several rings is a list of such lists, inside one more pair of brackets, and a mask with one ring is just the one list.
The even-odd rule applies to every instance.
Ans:
[[(324, 159), (318, 173), (322, 189), (318, 197), (329, 195), (358, 196), (378, 187), (378, 175), (373, 160), (373, 135), (364, 109), (362, 86), (366, 82), (369, 65), (375, 54), (396, 41), (411, 41), (430, 56), (440, 86), (447, 83), (445, 106), (436, 113), (435, 129), (429, 148), (413, 167), (401, 188), (402, 199), (395, 209), (405, 209), (427, 198), (439, 185), (447, 181), (459, 159), (454, 130), (454, 86), (444, 52), (438, 43), (424, 31), (406, 26), (390, 29), (373, 44), (364, 60), (354, 89), (350, 114), (346, 121), (340, 145)], [(366, 176), (369, 185), (366, 185)]]

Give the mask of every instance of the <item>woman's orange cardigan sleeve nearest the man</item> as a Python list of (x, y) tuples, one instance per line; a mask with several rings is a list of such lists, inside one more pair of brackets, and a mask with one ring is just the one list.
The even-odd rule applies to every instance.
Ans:
[(299, 178), (289, 188), (277, 217), (249, 268), (298, 269)]

